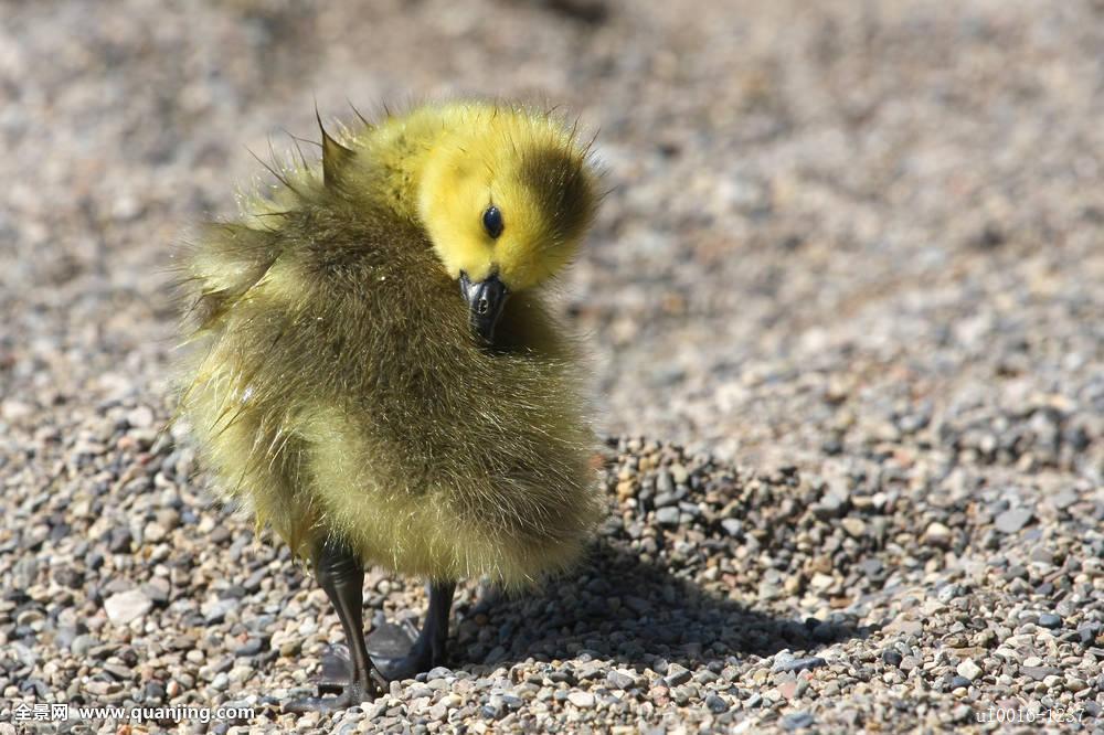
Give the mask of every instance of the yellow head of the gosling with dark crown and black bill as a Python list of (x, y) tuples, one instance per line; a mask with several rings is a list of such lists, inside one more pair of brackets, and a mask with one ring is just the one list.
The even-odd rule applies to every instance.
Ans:
[(484, 113), (435, 150), (418, 211), (471, 323), (488, 341), (510, 292), (534, 288), (574, 257), (597, 209), (587, 152), (548, 116)]

